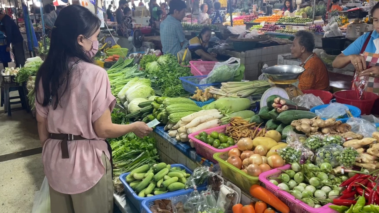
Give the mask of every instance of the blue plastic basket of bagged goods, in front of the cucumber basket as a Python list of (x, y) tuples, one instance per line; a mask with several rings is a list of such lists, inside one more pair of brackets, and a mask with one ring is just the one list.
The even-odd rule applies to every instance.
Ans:
[[(206, 189), (207, 187), (199, 187), (197, 188), (197, 191), (199, 192), (205, 191)], [(189, 194), (191, 194), (192, 191), (193, 190), (186, 190), (186, 191), (183, 191), (183, 193), (180, 193), (180, 194), (178, 193), (176, 195), (168, 195), (168, 193), (165, 193), (165, 194), (149, 197), (142, 202), (143, 209), (141, 210), (141, 213), (152, 213), (152, 211), (150, 210), (150, 207), (154, 205), (154, 201), (158, 199), (171, 200), (174, 205), (179, 203), (180, 201), (182, 201), (184, 204), (188, 200), (188, 196)]]

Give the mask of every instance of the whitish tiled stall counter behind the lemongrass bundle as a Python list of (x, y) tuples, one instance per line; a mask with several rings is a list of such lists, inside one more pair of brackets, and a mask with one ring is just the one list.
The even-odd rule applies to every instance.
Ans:
[(240, 58), (241, 64), (245, 65), (245, 80), (258, 80), (262, 73), (259, 63), (268, 66), (277, 65), (278, 55), (291, 52), (292, 44), (264, 47), (245, 52), (227, 51), (227, 55)]

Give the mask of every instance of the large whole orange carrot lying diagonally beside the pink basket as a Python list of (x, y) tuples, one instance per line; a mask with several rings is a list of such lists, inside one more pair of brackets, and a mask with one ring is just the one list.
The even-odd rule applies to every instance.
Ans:
[(289, 213), (290, 208), (288, 208), (285, 203), (283, 203), (279, 198), (277, 198), (273, 193), (269, 192), (265, 188), (263, 188), (260, 185), (254, 184), (250, 187), (250, 194), (251, 196), (262, 200), (268, 205), (271, 205), (276, 210), (282, 212), (282, 213)]

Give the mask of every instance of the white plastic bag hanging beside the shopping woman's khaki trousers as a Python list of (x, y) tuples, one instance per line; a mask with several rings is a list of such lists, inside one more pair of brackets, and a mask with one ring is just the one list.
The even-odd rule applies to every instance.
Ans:
[(34, 195), (31, 213), (51, 213), (49, 183), (45, 176), (41, 189)]

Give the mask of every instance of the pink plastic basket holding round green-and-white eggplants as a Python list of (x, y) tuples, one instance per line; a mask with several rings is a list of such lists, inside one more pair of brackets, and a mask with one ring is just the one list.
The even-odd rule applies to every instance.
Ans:
[(280, 174), (283, 172), (282, 170), (288, 170), (291, 168), (290, 164), (284, 165), (280, 168), (271, 169), (267, 172), (262, 172), (259, 175), (259, 180), (266, 185), (266, 189), (273, 193), (276, 197), (278, 197), (280, 200), (282, 200), (288, 207), (290, 207), (291, 213), (338, 213), (338, 211), (335, 211), (331, 208), (329, 208), (329, 205), (333, 204), (327, 204), (320, 208), (312, 208), (309, 205), (305, 204), (301, 200), (295, 199), (294, 196), (292, 196), (290, 193), (287, 193), (285, 191), (279, 190), (279, 187), (274, 185), (273, 183), (269, 182), (270, 177), (279, 177)]

